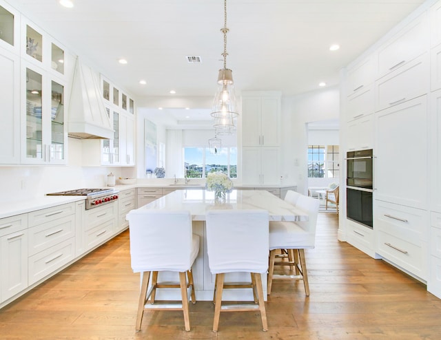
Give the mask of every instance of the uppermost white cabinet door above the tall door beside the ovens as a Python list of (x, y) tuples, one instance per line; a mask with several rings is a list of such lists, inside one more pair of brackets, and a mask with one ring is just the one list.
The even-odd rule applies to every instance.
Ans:
[(424, 12), (378, 48), (377, 78), (398, 70), (417, 56), (427, 52), (428, 46), (429, 25), (427, 12)]

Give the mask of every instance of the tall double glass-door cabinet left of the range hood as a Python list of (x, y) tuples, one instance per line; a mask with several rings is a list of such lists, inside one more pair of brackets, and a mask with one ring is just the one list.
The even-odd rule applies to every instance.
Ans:
[(23, 67), (25, 72), (24, 150), (21, 162), (28, 164), (65, 164), (65, 86), (48, 72)]

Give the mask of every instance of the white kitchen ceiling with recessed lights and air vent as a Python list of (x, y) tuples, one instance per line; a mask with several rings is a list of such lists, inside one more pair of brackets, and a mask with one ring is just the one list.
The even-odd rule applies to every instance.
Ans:
[[(223, 0), (74, 0), (72, 9), (56, 0), (7, 1), (114, 83), (146, 98), (143, 103), (159, 97), (152, 107), (167, 107), (174, 96), (214, 96), (223, 66)], [(227, 67), (236, 94), (278, 90), (292, 96), (318, 89), (321, 81), (336, 85), (342, 67), (423, 2), (229, 0)], [(330, 52), (334, 43), (340, 50)], [(189, 55), (202, 63), (187, 63)], [(118, 63), (121, 57), (127, 65)], [(187, 103), (192, 106), (191, 98)]]

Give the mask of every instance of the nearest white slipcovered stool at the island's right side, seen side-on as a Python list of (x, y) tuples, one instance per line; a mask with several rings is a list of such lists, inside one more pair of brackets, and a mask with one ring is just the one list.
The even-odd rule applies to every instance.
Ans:
[[(305, 260), (305, 248), (316, 245), (316, 225), (320, 202), (315, 198), (300, 195), (296, 207), (308, 213), (308, 220), (302, 222), (269, 222), (269, 270), (267, 293), (271, 294), (274, 278), (303, 279), (305, 293), (309, 296), (309, 283)], [(294, 250), (294, 261), (276, 262), (278, 249)], [(300, 262), (300, 263), (299, 263)], [(296, 275), (274, 275), (274, 266), (295, 266)], [(300, 274), (300, 275), (299, 275)]]

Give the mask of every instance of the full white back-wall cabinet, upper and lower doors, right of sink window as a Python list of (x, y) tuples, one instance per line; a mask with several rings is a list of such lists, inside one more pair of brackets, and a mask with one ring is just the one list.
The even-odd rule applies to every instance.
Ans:
[(242, 94), (242, 182), (280, 184), (280, 92)]

